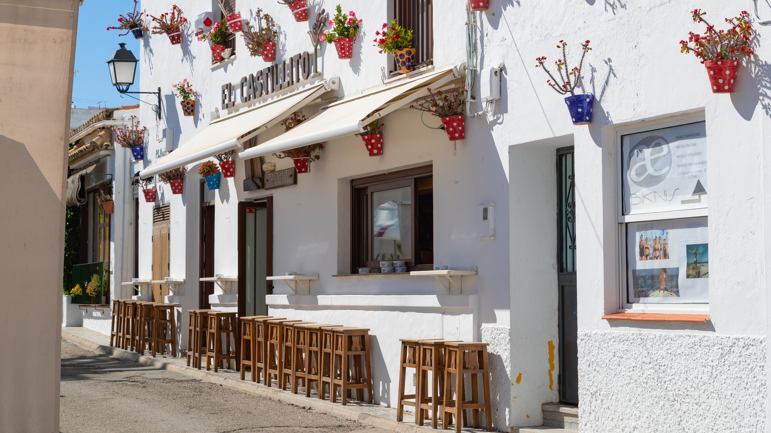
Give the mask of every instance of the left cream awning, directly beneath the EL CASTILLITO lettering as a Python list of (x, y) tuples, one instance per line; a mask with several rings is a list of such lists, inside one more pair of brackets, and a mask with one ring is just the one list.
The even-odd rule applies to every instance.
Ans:
[[(180, 144), (173, 152), (157, 159), (145, 170), (142, 170), (140, 178), (155, 176), (167, 170), (196, 163), (201, 159), (217, 155), (217, 153), (237, 149), (241, 146), (238, 137), (252, 129), (261, 128), (261, 131), (268, 129), (274, 123), (288, 116), (289, 113), (305, 106), (327, 90), (325, 82), (320, 82), (308, 87), (308, 89), (301, 89), (298, 92), (261, 103), (254, 108), (244, 110), (244, 112), (237, 112), (214, 120), (206, 129)], [(251, 137), (247, 136), (241, 140), (244, 141), (249, 138)]]

